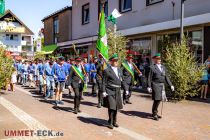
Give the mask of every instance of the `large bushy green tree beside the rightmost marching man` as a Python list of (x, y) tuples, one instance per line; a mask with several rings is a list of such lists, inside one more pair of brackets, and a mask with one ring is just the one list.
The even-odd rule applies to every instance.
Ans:
[(173, 96), (179, 100), (196, 96), (200, 90), (198, 81), (204, 67), (198, 66), (194, 55), (189, 51), (186, 39), (182, 45), (166, 41), (165, 46), (165, 49), (162, 49), (162, 57), (176, 88)]

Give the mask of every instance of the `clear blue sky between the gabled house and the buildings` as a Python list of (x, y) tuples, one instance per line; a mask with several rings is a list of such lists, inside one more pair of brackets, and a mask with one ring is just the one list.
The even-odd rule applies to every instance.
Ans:
[(10, 9), (37, 36), (43, 27), (41, 20), (49, 14), (71, 5), (71, 0), (5, 0)]

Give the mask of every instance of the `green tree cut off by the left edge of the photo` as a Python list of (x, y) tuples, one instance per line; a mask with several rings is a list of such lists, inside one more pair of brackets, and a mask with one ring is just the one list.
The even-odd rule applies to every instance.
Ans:
[(0, 46), (0, 89), (4, 88), (10, 81), (14, 72), (13, 60), (7, 55), (6, 50)]

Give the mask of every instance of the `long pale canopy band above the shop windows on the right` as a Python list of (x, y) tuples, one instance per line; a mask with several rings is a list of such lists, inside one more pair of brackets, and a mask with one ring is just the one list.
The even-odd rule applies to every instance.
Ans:
[[(202, 25), (210, 23), (210, 13), (191, 16), (184, 18), (183, 24), (184, 26), (194, 26), (194, 25)], [(169, 29), (175, 29), (180, 27), (180, 19), (171, 20), (161, 23), (155, 23), (145, 26), (139, 26), (134, 28), (129, 28), (125, 30), (120, 30), (119, 32), (125, 36), (135, 35), (135, 34), (143, 34), (143, 33), (150, 33), (150, 32), (157, 32)]]

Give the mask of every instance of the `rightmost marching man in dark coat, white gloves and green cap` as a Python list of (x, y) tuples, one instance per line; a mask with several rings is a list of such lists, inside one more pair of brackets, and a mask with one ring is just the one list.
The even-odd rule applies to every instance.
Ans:
[(152, 99), (154, 101), (152, 106), (153, 119), (158, 121), (162, 118), (158, 115), (158, 106), (161, 101), (167, 101), (165, 83), (171, 87), (172, 91), (174, 91), (174, 86), (167, 75), (166, 68), (161, 64), (160, 54), (156, 54), (153, 60), (154, 64), (150, 66), (147, 90), (149, 93), (152, 93)]

